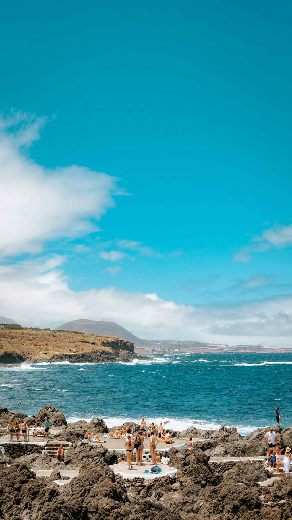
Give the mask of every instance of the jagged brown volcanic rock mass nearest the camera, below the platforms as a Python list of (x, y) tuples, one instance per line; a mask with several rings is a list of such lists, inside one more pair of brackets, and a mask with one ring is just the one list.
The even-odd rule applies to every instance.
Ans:
[[(15, 461), (0, 473), (0, 518), (3, 520), (290, 520), (289, 478), (270, 487), (262, 463), (233, 463), (224, 471), (211, 466), (201, 450), (171, 448), (174, 476), (154, 480), (122, 479), (108, 467), (102, 446), (72, 446), (65, 458), (79, 462), (80, 474), (61, 488), (58, 467), (50, 478), (35, 477), (28, 465)], [(27, 462), (39, 457), (25, 456)], [(30, 460), (29, 460), (30, 458)], [(36, 459), (33, 463), (36, 462)], [(66, 464), (68, 467), (70, 464)], [(227, 465), (227, 467), (229, 467)]]

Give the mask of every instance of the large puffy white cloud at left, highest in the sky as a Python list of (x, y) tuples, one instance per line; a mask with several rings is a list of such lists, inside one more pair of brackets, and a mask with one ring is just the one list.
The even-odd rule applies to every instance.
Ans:
[[(117, 178), (72, 165), (48, 170), (23, 146), (39, 138), (45, 118), (12, 113), (0, 119), (0, 255), (37, 253), (45, 241), (98, 230), (96, 220), (115, 206)], [(9, 132), (18, 124), (17, 132)]]

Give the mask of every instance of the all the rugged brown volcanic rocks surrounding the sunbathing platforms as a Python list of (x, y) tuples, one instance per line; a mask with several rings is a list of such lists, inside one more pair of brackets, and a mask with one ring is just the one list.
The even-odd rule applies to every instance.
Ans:
[[(55, 428), (54, 439), (68, 440), (64, 462), (42, 456), (42, 446), (6, 444), (10, 463), (0, 472), (0, 518), (13, 520), (288, 520), (292, 518), (292, 480), (283, 477), (269, 486), (262, 461), (211, 462), (211, 457), (260, 456), (266, 453), (263, 436), (266, 428), (240, 436), (236, 428), (221, 426), (219, 431), (198, 430), (173, 432), (178, 438), (189, 435), (195, 449), (188, 452), (171, 447), (170, 465), (173, 476), (154, 480), (123, 479), (109, 465), (117, 463), (119, 453), (106, 445), (80, 443), (87, 428), (94, 433), (107, 433), (102, 419), (90, 423), (69, 424), (58, 408), (45, 407), (30, 418), (26, 414), (0, 409), (0, 426), (26, 420), (42, 422), (45, 415)], [(130, 425), (133, 432), (135, 423)], [(292, 427), (275, 428), (283, 446), (292, 445)], [(196, 440), (197, 439), (197, 440)], [(159, 451), (159, 449), (158, 449)], [(64, 486), (55, 481), (62, 468), (79, 470), (79, 475)], [(49, 477), (34, 471), (53, 469)], [(62, 477), (61, 477), (62, 478)]]

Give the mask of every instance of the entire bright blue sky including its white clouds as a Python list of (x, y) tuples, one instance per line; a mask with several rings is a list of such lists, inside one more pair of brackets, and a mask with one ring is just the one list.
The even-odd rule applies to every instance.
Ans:
[(291, 11), (3, 6), (0, 314), (290, 346)]

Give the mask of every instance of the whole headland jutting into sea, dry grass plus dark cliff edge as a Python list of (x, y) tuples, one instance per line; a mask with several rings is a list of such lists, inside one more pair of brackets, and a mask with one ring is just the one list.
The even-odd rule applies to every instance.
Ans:
[(0, 363), (110, 360), (133, 351), (132, 343), (117, 337), (50, 329), (11, 330), (0, 326)]

